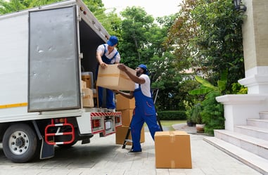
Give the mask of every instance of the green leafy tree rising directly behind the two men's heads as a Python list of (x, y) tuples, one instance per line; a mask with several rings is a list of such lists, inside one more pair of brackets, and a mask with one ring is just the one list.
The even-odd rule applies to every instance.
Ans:
[(127, 7), (122, 15), (121, 40), (118, 48), (122, 56), (122, 62), (129, 67), (147, 64), (153, 54), (148, 50), (150, 37), (148, 32), (153, 27), (153, 17), (147, 15), (140, 7)]

